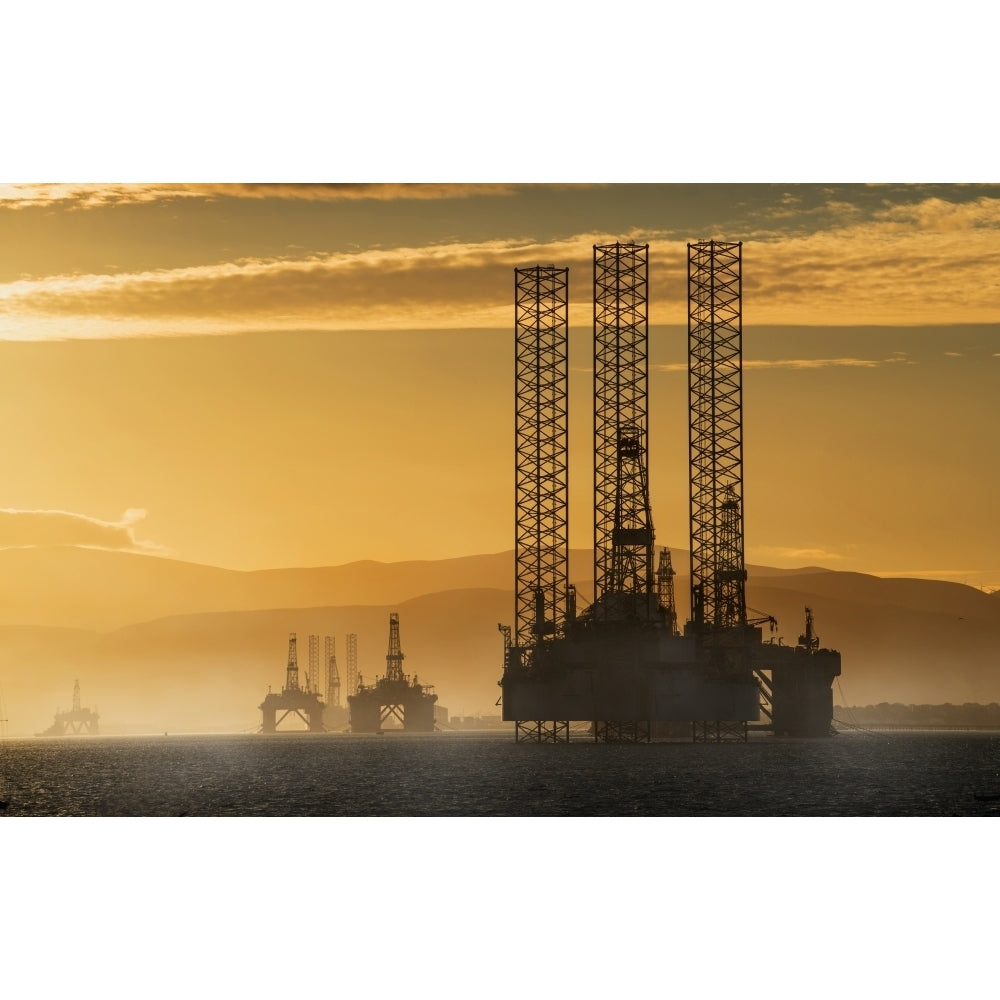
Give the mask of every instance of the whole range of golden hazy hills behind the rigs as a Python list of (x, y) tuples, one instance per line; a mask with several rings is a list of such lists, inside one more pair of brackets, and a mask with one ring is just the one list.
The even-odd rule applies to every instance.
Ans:
[[(675, 581), (688, 615), (687, 553)], [(513, 622), (511, 552), (440, 562), (237, 573), (96, 550), (0, 552), (0, 695), (9, 731), (44, 729), (72, 698), (106, 732), (253, 729), (268, 685), (285, 679), (288, 635), (301, 676), (309, 634), (346, 635), (359, 669), (385, 671), (388, 617), (400, 614), (404, 669), (433, 684), (452, 714), (497, 712), (502, 638)], [(592, 593), (588, 553), (571, 576), (581, 607)], [(20, 581), (20, 582), (18, 582)], [(1000, 701), (1000, 601), (960, 584), (881, 579), (815, 568), (752, 567), (748, 604), (777, 618), (794, 644), (804, 607), (824, 646), (841, 650), (835, 702)], [(765, 628), (765, 635), (770, 632)]]

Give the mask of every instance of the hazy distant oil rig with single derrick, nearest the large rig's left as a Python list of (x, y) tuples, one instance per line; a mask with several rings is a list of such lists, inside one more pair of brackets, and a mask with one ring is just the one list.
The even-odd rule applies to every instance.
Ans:
[(434, 703), (431, 685), (420, 684), (403, 673), (403, 653), (399, 642), (399, 615), (389, 615), (389, 651), (385, 676), (366, 685), (358, 676), (357, 688), (347, 696), (352, 733), (381, 733), (386, 728), (408, 733), (434, 732)]

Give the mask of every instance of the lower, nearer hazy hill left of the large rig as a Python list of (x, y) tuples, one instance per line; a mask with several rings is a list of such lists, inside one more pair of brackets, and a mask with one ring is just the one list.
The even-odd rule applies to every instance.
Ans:
[(68, 709), (77, 678), (104, 732), (253, 729), (268, 687), (285, 682), (289, 633), (297, 634), (302, 683), (314, 634), (335, 638), (346, 685), (349, 632), (358, 636), (359, 672), (371, 682), (385, 673), (389, 614), (397, 611), (406, 673), (433, 685), (452, 714), (499, 712), (497, 624), (510, 619), (512, 604), (511, 591), (467, 589), (386, 606), (178, 615), (107, 633), (8, 626), (0, 629), (0, 689), (12, 734), (39, 732)]

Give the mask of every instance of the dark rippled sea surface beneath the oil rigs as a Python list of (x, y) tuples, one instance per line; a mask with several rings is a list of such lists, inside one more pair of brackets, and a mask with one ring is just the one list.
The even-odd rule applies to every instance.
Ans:
[(0, 816), (992, 816), (1000, 734), (515, 743), (510, 733), (0, 742)]

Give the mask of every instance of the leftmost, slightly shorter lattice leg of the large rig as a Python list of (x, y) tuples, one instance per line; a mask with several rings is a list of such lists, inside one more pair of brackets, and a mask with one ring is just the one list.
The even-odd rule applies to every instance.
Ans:
[(569, 268), (514, 271), (514, 643), (566, 617), (569, 580)]

